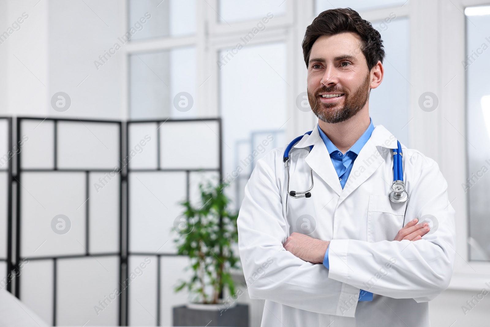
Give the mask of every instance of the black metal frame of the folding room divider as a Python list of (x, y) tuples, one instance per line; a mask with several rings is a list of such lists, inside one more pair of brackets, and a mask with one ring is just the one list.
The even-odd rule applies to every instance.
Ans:
[[(21, 264), (24, 259), (27, 260), (52, 260), (53, 264), (53, 298), (52, 298), (52, 321), (53, 326), (56, 326), (56, 306), (57, 306), (57, 298), (56, 298), (56, 286), (57, 286), (57, 261), (58, 259), (68, 259), (68, 258), (86, 258), (86, 257), (99, 257), (99, 256), (117, 256), (119, 257), (119, 285), (121, 287), (121, 295), (119, 296), (119, 313), (118, 313), (118, 324), (119, 326), (127, 326), (128, 323), (128, 292), (129, 285), (124, 287), (124, 281), (129, 276), (129, 267), (128, 267), (128, 257), (129, 255), (148, 255), (148, 256), (156, 256), (157, 257), (157, 326), (160, 326), (160, 298), (161, 298), (161, 289), (160, 289), (160, 266), (161, 266), (161, 257), (162, 256), (178, 256), (178, 254), (173, 253), (156, 253), (156, 252), (129, 252), (129, 180), (128, 174), (130, 172), (184, 172), (186, 174), (186, 199), (189, 200), (190, 196), (190, 174), (192, 172), (217, 172), (219, 175), (219, 180), (222, 181), (222, 161), (223, 161), (223, 151), (222, 151), (222, 124), (221, 118), (203, 118), (203, 119), (159, 119), (159, 120), (133, 120), (133, 121), (114, 121), (114, 120), (89, 120), (89, 119), (69, 119), (69, 118), (39, 118), (39, 117), (18, 117), (16, 122), (16, 138), (13, 138), (13, 130), (12, 130), (12, 118), (11, 117), (0, 117), (0, 119), (8, 120), (8, 149), (12, 151), (13, 142), (19, 142), (22, 139), (22, 122), (26, 120), (30, 121), (39, 121), (40, 124), (45, 120), (53, 122), (53, 168), (49, 169), (32, 169), (32, 168), (22, 168), (22, 155), (19, 151), (15, 153), (12, 158), (9, 160), (8, 165), (8, 207), (7, 207), (7, 258), (6, 260), (0, 259), (1, 261), (7, 261), (7, 277), (8, 274), (14, 273), (15, 276), (15, 289), (13, 290), (13, 280), (12, 278), (7, 278), (7, 290), (12, 293), (15, 291), (15, 296), (20, 299), (21, 294), (21, 274), (20, 270)], [(164, 123), (172, 123), (172, 122), (217, 122), (218, 123), (218, 149), (219, 149), (219, 158), (218, 158), (218, 168), (196, 168), (196, 169), (161, 169), (160, 168), (160, 129)], [(57, 146), (57, 126), (58, 122), (80, 122), (80, 123), (101, 123), (101, 124), (117, 124), (119, 126), (119, 156), (118, 160), (121, 163), (121, 170), (119, 172), (120, 175), (120, 184), (119, 184), (119, 252), (107, 252), (107, 253), (90, 253), (89, 248), (89, 224), (90, 224), (90, 199), (89, 199), (89, 175), (90, 173), (101, 173), (101, 172), (110, 172), (108, 169), (59, 169), (58, 168), (58, 146)], [(155, 123), (159, 127), (157, 128), (157, 168), (156, 169), (130, 169), (129, 168), (129, 125), (130, 124), (138, 124), (138, 123)], [(19, 145), (18, 145), (19, 146)], [(15, 158), (15, 160), (14, 160)], [(125, 161), (127, 160), (127, 161)], [(126, 162), (126, 164), (124, 164)], [(15, 163), (15, 173), (14, 173), (14, 163)], [(42, 257), (22, 257), (21, 256), (21, 244), (22, 244), (22, 233), (21, 233), (21, 188), (23, 187), (21, 184), (21, 175), (25, 172), (75, 172), (75, 173), (84, 173), (85, 174), (85, 186), (86, 186), (86, 198), (88, 199), (85, 202), (85, 243), (86, 243), (86, 251), (84, 254), (73, 254), (73, 255), (54, 255), (54, 256), (42, 256)], [(16, 186), (16, 194), (15, 194), (15, 204), (14, 195), (13, 195), (13, 184)], [(15, 224), (13, 217), (13, 208), (15, 205)], [(83, 204), (82, 204), (83, 205)], [(221, 222), (220, 222), (221, 225)], [(15, 256), (14, 253), (14, 244), (13, 244), (13, 236), (15, 233)], [(19, 274), (17, 274), (19, 273)]]

